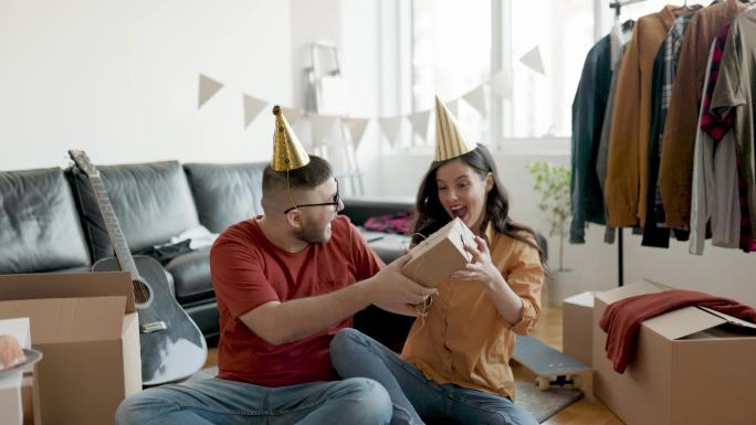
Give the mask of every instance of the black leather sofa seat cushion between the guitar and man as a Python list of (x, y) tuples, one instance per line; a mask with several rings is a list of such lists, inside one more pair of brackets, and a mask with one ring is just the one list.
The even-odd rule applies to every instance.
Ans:
[(176, 299), (180, 304), (214, 298), (210, 280), (210, 247), (181, 254), (166, 264), (174, 276)]

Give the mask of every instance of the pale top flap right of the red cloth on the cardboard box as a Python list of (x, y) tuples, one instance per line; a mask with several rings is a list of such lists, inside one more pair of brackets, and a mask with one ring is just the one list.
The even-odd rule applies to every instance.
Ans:
[(697, 307), (672, 310), (643, 321), (647, 328), (670, 340), (684, 338), (723, 323), (726, 323), (725, 319), (710, 315)]

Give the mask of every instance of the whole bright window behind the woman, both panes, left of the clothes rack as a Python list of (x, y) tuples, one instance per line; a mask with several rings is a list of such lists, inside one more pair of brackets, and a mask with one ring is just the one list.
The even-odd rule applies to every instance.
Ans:
[[(620, 19), (638, 19), (665, 3), (626, 6)], [(508, 70), (512, 96), (491, 97), (491, 119), (459, 102), (463, 130), (476, 141), (495, 145), (565, 140), (586, 55), (613, 20), (608, 0), (413, 0), (412, 109), (431, 108), (435, 93), (444, 100), (460, 98), (489, 81), (492, 70)], [(413, 146), (419, 140), (414, 137)]]

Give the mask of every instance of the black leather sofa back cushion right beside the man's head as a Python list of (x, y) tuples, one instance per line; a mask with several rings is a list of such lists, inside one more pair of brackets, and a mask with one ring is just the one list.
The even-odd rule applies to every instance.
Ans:
[(262, 214), (262, 171), (266, 162), (187, 163), (200, 223), (221, 233), (231, 224)]

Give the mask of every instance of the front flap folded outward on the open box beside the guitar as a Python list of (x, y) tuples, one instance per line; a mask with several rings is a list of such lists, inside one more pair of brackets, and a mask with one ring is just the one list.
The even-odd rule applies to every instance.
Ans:
[(0, 317), (31, 317), (32, 344), (120, 338), (125, 296), (0, 301)]

